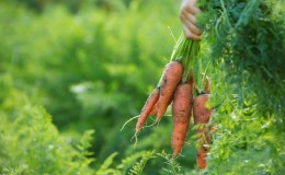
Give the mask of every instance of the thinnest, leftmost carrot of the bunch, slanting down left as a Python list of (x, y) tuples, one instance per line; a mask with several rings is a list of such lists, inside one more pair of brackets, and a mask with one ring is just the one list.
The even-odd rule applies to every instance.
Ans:
[(159, 88), (156, 88), (148, 96), (148, 98), (140, 112), (140, 115), (138, 117), (137, 125), (136, 125), (136, 133), (141, 129), (141, 127), (146, 122), (147, 117), (150, 115), (151, 109), (158, 102), (158, 98), (159, 98)]

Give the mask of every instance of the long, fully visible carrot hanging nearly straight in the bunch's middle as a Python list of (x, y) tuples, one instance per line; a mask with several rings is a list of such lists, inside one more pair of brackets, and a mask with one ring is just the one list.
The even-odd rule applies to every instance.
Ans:
[(173, 129), (171, 137), (171, 147), (173, 158), (175, 158), (184, 144), (189, 129), (192, 109), (192, 88), (187, 83), (179, 84), (172, 103)]

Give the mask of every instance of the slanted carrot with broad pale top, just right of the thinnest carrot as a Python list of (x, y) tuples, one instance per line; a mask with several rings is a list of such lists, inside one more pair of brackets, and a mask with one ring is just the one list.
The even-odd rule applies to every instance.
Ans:
[(171, 61), (164, 68), (162, 74), (162, 84), (160, 86), (160, 96), (158, 100), (158, 113), (156, 122), (164, 115), (168, 105), (171, 102), (173, 92), (181, 81), (183, 67), (179, 61)]

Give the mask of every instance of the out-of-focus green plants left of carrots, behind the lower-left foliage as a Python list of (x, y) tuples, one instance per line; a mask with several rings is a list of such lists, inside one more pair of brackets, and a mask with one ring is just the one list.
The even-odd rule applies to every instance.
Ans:
[(70, 15), (55, 5), (38, 15), (1, 2), (0, 70), (48, 110), (59, 130), (95, 129), (92, 150), (103, 161), (129, 145), (121, 140), (132, 131), (117, 132), (138, 114), (171, 52), (167, 26), (174, 32), (179, 21), (167, 3), (135, 1), (119, 15), (102, 9)]

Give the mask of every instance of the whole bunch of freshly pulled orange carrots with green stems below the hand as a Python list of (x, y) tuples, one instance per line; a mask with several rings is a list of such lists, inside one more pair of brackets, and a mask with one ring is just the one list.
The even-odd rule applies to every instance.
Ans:
[[(206, 166), (209, 133), (206, 124), (212, 109), (205, 106), (209, 98), (209, 80), (205, 78), (205, 88), (193, 96), (195, 83), (191, 68), (192, 59), (198, 54), (198, 43), (180, 37), (169, 63), (164, 67), (157, 88), (149, 94), (136, 124), (136, 136), (149, 116), (157, 116), (155, 124), (163, 117), (169, 105), (172, 105), (173, 129), (171, 147), (173, 158), (182, 150), (192, 115), (196, 125), (196, 163), (200, 170)], [(204, 80), (204, 79), (203, 79)]]

